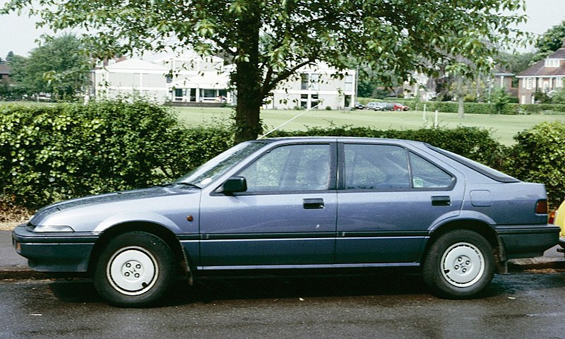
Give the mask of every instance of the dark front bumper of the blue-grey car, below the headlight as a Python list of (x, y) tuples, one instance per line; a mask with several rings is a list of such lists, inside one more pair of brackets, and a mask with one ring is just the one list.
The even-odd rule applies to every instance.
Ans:
[(86, 272), (97, 234), (91, 232), (35, 233), (28, 225), (12, 232), (12, 244), (38, 272)]

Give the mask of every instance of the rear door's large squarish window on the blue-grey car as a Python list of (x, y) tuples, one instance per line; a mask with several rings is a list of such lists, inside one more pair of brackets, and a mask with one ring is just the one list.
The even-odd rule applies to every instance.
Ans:
[(410, 189), (408, 155), (393, 145), (345, 144), (345, 189)]

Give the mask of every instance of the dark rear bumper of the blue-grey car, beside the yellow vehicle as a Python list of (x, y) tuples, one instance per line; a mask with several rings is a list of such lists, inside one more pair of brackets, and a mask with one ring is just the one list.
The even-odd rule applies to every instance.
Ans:
[(543, 252), (559, 242), (559, 227), (553, 225), (500, 227), (496, 232), (507, 259), (543, 256)]

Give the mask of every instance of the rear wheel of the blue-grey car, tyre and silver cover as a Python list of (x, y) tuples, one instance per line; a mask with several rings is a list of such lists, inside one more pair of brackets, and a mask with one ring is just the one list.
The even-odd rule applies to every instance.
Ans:
[(439, 297), (475, 297), (489, 285), (494, 275), (492, 246), (477, 232), (448, 232), (429, 248), (422, 274), (427, 285)]

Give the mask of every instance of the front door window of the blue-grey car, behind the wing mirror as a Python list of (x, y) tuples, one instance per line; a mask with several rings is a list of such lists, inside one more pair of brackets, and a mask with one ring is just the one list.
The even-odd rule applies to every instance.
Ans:
[(321, 191), (329, 187), (330, 145), (286, 145), (270, 150), (239, 176), (247, 192)]

